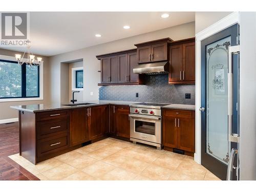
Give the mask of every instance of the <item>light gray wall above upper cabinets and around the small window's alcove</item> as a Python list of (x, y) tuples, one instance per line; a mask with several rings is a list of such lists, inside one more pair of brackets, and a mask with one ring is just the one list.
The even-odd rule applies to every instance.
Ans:
[[(95, 100), (99, 97), (100, 61), (96, 55), (136, 48), (134, 44), (154, 39), (170, 37), (174, 40), (195, 36), (195, 22), (174, 26), (150, 33), (145, 33), (129, 38), (124, 38), (106, 44), (101, 44), (89, 48), (84, 48), (68, 53), (63, 53), (50, 57), (50, 76), (51, 76), (51, 101), (60, 102), (60, 63), (70, 60), (83, 59), (84, 69), (84, 91), (83, 100)], [(93, 95), (90, 95), (93, 92)]]

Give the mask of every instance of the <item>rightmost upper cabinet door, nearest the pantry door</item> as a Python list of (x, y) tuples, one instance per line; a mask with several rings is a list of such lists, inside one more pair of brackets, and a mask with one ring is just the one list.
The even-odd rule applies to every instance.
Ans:
[(183, 44), (183, 80), (195, 82), (195, 42)]

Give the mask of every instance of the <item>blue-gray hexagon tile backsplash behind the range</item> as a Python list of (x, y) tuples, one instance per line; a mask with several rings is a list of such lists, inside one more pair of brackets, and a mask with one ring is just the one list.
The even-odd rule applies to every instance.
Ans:
[[(190, 99), (185, 99), (186, 93), (190, 93)], [(99, 99), (195, 104), (195, 84), (170, 85), (168, 74), (146, 75), (143, 85), (100, 87)]]

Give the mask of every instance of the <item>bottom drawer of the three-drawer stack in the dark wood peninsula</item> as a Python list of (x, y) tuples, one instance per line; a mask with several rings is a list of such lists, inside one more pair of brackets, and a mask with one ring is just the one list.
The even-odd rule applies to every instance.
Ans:
[(61, 151), (69, 147), (68, 135), (62, 134), (58, 137), (37, 140), (37, 156)]

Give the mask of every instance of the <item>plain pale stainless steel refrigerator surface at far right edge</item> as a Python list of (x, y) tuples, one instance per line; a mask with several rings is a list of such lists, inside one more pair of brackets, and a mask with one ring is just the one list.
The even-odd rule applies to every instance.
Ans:
[(256, 12), (240, 12), (240, 180), (256, 180)]

